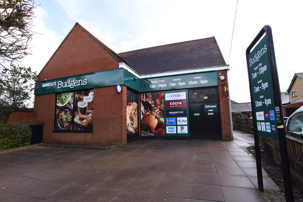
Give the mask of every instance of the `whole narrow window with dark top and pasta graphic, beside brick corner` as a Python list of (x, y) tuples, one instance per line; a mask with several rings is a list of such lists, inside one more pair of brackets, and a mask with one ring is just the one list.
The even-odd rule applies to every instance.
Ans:
[(138, 136), (138, 93), (127, 89), (126, 92), (126, 127), (127, 138)]

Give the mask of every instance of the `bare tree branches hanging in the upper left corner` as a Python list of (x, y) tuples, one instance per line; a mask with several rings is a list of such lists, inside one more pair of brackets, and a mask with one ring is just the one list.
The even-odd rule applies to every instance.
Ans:
[(33, 36), (34, 0), (0, 0), (0, 59), (25, 57)]

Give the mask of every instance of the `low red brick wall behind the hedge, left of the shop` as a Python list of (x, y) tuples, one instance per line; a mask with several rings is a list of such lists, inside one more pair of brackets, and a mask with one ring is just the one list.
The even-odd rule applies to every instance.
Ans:
[(37, 123), (37, 113), (10, 112), (7, 123)]

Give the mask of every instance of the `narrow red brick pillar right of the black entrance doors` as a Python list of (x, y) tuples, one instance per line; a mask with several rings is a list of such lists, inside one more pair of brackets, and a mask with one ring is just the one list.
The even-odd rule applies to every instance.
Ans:
[(228, 92), (226, 92), (226, 96), (225, 96), (225, 93), (223, 92), (223, 86), (221, 85), (221, 82), (225, 82), (225, 85), (227, 85), (226, 71), (225, 70), (219, 70), (218, 71), (218, 77), (219, 77), (219, 73), (221, 73), (221, 76), (223, 75), (225, 77), (224, 80), (221, 80), (220, 78), (218, 78), (219, 79), (219, 99), (220, 99), (222, 139), (223, 140), (231, 140), (231, 129), (230, 129), (231, 126), (230, 126), (229, 105), (228, 105)]

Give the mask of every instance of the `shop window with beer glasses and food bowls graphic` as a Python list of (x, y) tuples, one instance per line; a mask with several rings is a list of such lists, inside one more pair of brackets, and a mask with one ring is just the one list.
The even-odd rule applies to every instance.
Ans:
[(94, 90), (56, 94), (55, 131), (87, 131), (93, 129)]

